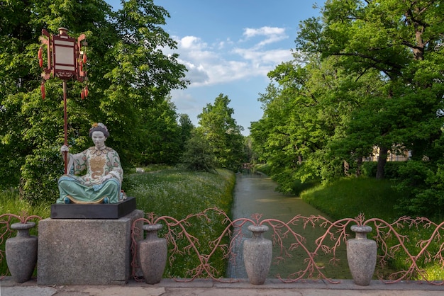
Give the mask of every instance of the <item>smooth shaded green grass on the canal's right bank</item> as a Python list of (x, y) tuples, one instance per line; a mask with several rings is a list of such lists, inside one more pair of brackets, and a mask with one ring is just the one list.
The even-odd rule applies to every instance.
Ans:
[[(402, 193), (394, 190), (394, 183), (389, 180), (377, 180), (376, 178), (343, 178), (340, 181), (330, 185), (318, 185), (301, 193), (301, 198), (321, 210), (334, 220), (343, 218), (357, 217), (361, 213), (366, 219), (380, 218), (386, 222), (392, 223), (402, 216), (395, 210), (397, 200), (401, 198)], [(409, 228), (396, 229), (402, 235), (409, 237), (406, 241), (406, 247), (411, 254), (418, 254), (421, 247), (417, 242), (428, 239), (434, 229)], [(439, 252), (440, 244), (443, 241), (434, 241), (428, 247), (431, 254)], [(387, 244), (394, 246), (398, 244), (395, 238), (388, 239)], [(428, 280), (443, 280), (444, 270), (437, 261), (426, 262), (422, 256), (416, 263), (426, 272)], [(395, 258), (389, 259), (389, 269), (392, 271), (401, 271), (409, 268), (411, 261), (408, 256), (399, 250)], [(388, 271), (387, 271), (388, 272)], [(384, 272), (387, 274), (387, 272)], [(415, 275), (414, 279), (423, 280), (421, 276)]]

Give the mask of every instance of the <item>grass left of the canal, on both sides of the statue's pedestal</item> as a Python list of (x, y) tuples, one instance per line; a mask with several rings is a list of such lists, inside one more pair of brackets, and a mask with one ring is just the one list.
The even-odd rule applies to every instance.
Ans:
[[(217, 170), (217, 173), (204, 173), (174, 169), (170, 166), (152, 166), (143, 168), (145, 173), (126, 174), (126, 184), (131, 186), (126, 190), (128, 196), (136, 198), (137, 207), (145, 213), (154, 212), (157, 216), (170, 216), (177, 220), (184, 219), (190, 214), (197, 214), (210, 207), (229, 213), (233, 201), (235, 175), (231, 171)], [(135, 171), (135, 170), (134, 170)], [(50, 204), (33, 206), (21, 200), (17, 190), (5, 190), (0, 193), (0, 213), (38, 215), (43, 219), (50, 217)], [(194, 219), (187, 231), (200, 241), (201, 252), (208, 254), (209, 241), (216, 239), (225, 229), (222, 218), (210, 216), (211, 223)], [(18, 221), (16, 221), (18, 222)], [(164, 227), (165, 228), (165, 227)], [(37, 227), (31, 231), (34, 235)], [(162, 232), (159, 233), (162, 236)], [(14, 235), (14, 234), (13, 234)], [(4, 251), (4, 241), (0, 241), (0, 249)], [(186, 246), (187, 241), (178, 240)], [(228, 237), (223, 241), (228, 243)], [(211, 258), (211, 266), (223, 277), (226, 273), (226, 260), (220, 251)], [(187, 271), (199, 265), (194, 254), (185, 253), (176, 256), (172, 266), (167, 265), (165, 277), (186, 278)], [(6, 274), (6, 260), (1, 259), (0, 275)]]

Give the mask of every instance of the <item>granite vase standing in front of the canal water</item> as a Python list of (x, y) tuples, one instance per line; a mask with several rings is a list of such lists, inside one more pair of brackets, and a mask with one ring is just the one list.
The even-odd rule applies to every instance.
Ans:
[(245, 271), (251, 284), (262, 285), (272, 263), (272, 241), (262, 237), (268, 230), (267, 225), (250, 225), (248, 230), (252, 232), (252, 237), (243, 243)]

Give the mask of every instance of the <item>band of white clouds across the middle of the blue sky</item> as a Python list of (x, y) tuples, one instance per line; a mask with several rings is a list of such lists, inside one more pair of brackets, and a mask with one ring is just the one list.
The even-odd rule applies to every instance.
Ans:
[(174, 52), (179, 54), (179, 62), (188, 69), (187, 79), (192, 83), (189, 87), (266, 77), (277, 64), (292, 58), (289, 49), (264, 48), (264, 45), (288, 38), (284, 28), (246, 28), (243, 36), (246, 39), (240, 40), (237, 45), (230, 39), (209, 45), (196, 36), (172, 36), (177, 41)]

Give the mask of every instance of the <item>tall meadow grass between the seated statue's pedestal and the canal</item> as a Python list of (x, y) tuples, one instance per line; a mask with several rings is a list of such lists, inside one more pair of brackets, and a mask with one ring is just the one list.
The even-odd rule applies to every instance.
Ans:
[[(188, 215), (198, 214), (204, 210), (217, 207), (227, 214), (231, 211), (235, 175), (228, 170), (218, 169), (217, 173), (184, 171), (182, 169), (164, 169), (152, 173), (132, 174), (133, 188), (127, 191), (128, 196), (134, 196), (139, 210), (154, 213), (155, 216), (170, 216), (182, 220)], [(226, 224), (222, 216), (215, 212), (209, 214), (207, 221), (202, 218), (187, 220), (187, 232), (199, 239), (201, 254), (209, 254), (213, 249), (211, 241), (221, 235)], [(165, 227), (159, 236), (165, 234)], [(189, 244), (184, 238), (178, 238), (179, 249)], [(229, 238), (224, 237), (222, 244), (228, 244)], [(169, 250), (171, 255), (171, 249)], [(221, 250), (211, 257), (209, 263), (217, 271), (217, 277), (226, 275), (227, 262)], [(167, 264), (164, 278), (189, 278), (188, 271), (199, 266), (199, 258), (193, 251), (174, 255), (172, 264)], [(206, 277), (204, 273), (202, 276)]]

